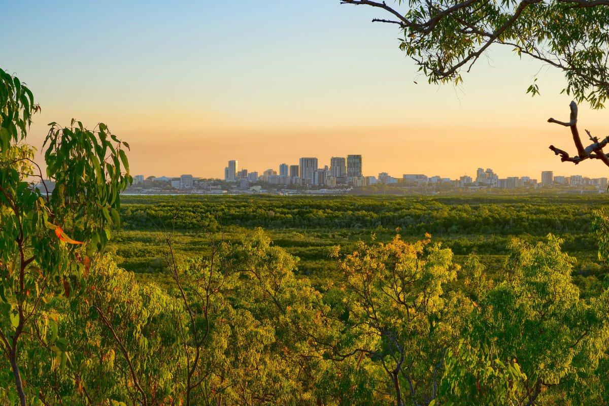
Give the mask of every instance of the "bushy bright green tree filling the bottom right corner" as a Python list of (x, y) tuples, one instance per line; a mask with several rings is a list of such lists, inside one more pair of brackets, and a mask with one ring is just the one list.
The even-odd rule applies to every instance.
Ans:
[(535, 245), (514, 240), (507, 278), (495, 287), (477, 284), (490, 289), (481, 291), (451, 349), (438, 404), (607, 401), (608, 292), (580, 298), (571, 278), (575, 259), (561, 242), (551, 235)]

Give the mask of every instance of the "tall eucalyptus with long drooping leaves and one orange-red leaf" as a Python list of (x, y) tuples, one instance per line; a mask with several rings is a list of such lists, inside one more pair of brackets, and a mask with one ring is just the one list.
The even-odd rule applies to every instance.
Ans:
[[(128, 145), (105, 124), (87, 130), (74, 120), (69, 127), (49, 124), (43, 175), (26, 144), (38, 110), (30, 89), (0, 69), (0, 368), (2, 379), (13, 376), (12, 385), (2, 385), (4, 396), (21, 406), (40, 402), (38, 388), (24, 385), (23, 341), (40, 340), (67, 359), (65, 340), (41, 308), (51, 298), (83, 292), (86, 264), (118, 226), (119, 192), (132, 180)], [(32, 187), (29, 178), (55, 187)]]

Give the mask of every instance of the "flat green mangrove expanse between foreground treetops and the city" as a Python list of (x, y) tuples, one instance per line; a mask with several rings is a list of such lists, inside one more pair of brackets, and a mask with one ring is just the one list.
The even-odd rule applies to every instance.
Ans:
[(352, 250), (358, 241), (414, 242), (430, 233), (451, 248), (463, 264), (476, 253), (495, 277), (518, 237), (539, 242), (560, 236), (563, 249), (576, 256), (574, 278), (584, 292), (600, 289), (606, 268), (597, 258), (591, 234), (600, 196), (442, 196), (442, 197), (281, 197), (281, 196), (125, 196), (123, 229), (110, 248), (122, 267), (139, 281), (169, 284), (166, 234), (183, 257), (208, 253), (211, 240), (238, 239), (246, 229), (262, 227), (273, 243), (300, 258), (297, 276), (321, 288), (340, 278), (329, 256), (334, 245)]

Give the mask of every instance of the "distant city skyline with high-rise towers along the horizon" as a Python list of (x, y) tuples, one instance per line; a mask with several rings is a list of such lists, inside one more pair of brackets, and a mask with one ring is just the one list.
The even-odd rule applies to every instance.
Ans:
[[(565, 193), (607, 192), (607, 178), (588, 178), (582, 175), (554, 176), (551, 170), (541, 172), (541, 181), (528, 176), (500, 178), (493, 169), (478, 168), (476, 177), (463, 175), (459, 179), (404, 173), (400, 178), (387, 172), (378, 176), (364, 176), (362, 155), (333, 156), (329, 166), (319, 166), (314, 157), (300, 158), (297, 164), (281, 163), (277, 169), (248, 171), (239, 169), (239, 161), (231, 159), (224, 168), (224, 179), (180, 177), (133, 177), (133, 186), (141, 193), (189, 192), (202, 194), (223, 193), (315, 193), (341, 194), (384, 192), (400, 189), (412, 192), (434, 192), (450, 189), (477, 191), (480, 189), (519, 189), (523, 192), (551, 191)], [(393, 190), (392, 190), (393, 189)]]

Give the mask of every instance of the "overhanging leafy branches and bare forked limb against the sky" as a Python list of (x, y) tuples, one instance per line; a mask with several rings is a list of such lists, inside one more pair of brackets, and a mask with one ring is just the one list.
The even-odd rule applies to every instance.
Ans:
[[(463, 81), (471, 67), (492, 45), (510, 47), (519, 57), (558, 68), (565, 74), (561, 93), (577, 102), (588, 101), (603, 108), (609, 96), (609, 1), (608, 0), (398, 0), (398, 7), (385, 1), (340, 0), (341, 4), (368, 5), (391, 19), (372, 21), (395, 24), (403, 33), (400, 49), (428, 78), (429, 83)], [(401, 9), (400, 6), (404, 6)], [(539, 93), (537, 78), (527, 93)], [(571, 120), (549, 122), (571, 127), (577, 156), (552, 145), (561, 161), (579, 163), (600, 159), (609, 138), (602, 141), (588, 133), (593, 143), (584, 148), (577, 134), (577, 106), (571, 104)]]

